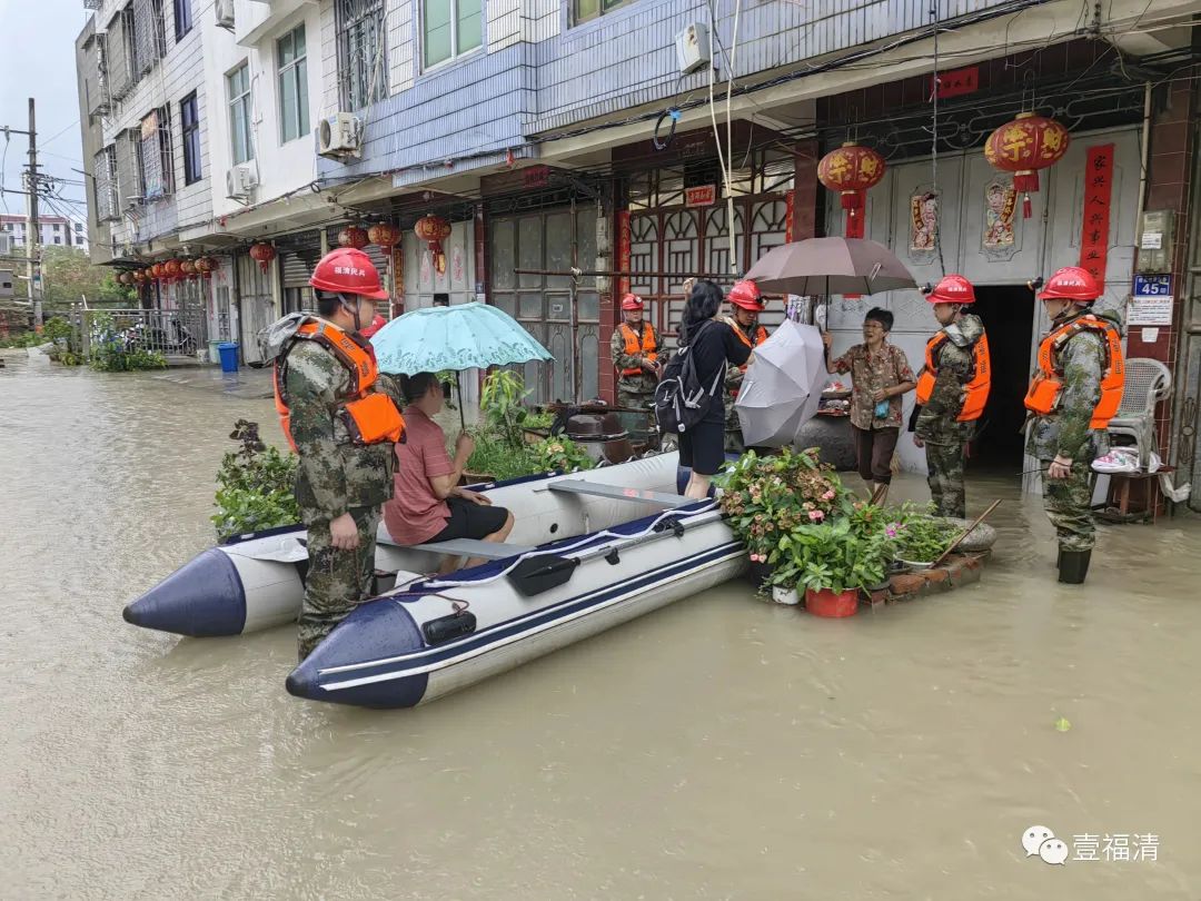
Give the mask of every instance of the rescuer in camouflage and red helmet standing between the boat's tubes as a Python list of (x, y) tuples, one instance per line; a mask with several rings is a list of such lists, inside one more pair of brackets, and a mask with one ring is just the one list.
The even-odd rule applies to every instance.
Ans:
[[(368, 350), (357, 333), (375, 315), (375, 300), (387, 299), (380, 275), (365, 253), (343, 247), (327, 255), (310, 284), (317, 292), (322, 320), (349, 333)], [(282, 334), (269, 339), (282, 346), (276, 359), (277, 384), (287, 406), (288, 431), (299, 458), (295, 497), (309, 529), (309, 567), (298, 623), (303, 661), (346, 615), (371, 596), (375, 572), (376, 530), (380, 511), (393, 493), (394, 443), (352, 442), (341, 410), (357, 395), (351, 372), (316, 340), (291, 340), (304, 320), (293, 315), (273, 327)], [(374, 352), (369, 351), (374, 368)], [(371, 390), (386, 393), (402, 404), (395, 383), (378, 375)], [(281, 411), (282, 412), (282, 411)], [(396, 419), (400, 419), (399, 412)]]

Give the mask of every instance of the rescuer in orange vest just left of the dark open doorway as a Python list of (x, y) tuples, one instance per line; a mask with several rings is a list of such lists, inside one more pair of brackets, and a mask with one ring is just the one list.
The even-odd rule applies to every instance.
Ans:
[[(926, 482), (930, 497), (940, 517), (963, 519), (967, 497), (963, 489), (963, 465), (979, 413), (988, 395), (988, 366), (978, 380), (976, 342), (987, 339), (979, 316), (964, 314), (963, 306), (975, 303), (975, 290), (962, 275), (948, 275), (927, 292), (934, 318), (943, 328), (931, 339), (927, 368), (918, 377), (918, 406), (914, 408), (913, 443), (926, 448)], [(931, 363), (933, 366), (931, 366)], [(982, 398), (974, 398), (973, 418), (961, 418), (968, 410), (968, 386), (982, 386)], [(975, 389), (973, 389), (975, 390)]]

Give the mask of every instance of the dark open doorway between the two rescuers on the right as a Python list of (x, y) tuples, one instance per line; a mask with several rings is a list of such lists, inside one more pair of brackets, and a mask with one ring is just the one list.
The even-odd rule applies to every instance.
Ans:
[(975, 286), (972, 312), (984, 321), (992, 358), (992, 388), (972, 442), (970, 466), (1016, 475), (1024, 453), (1026, 407), (1034, 339), (1034, 293), (1026, 286)]

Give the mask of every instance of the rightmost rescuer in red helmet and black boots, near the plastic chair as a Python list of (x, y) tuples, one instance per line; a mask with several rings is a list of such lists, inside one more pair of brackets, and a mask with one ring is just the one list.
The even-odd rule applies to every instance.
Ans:
[[(1092, 275), (1077, 267), (1066, 267), (1051, 276), (1039, 294), (1051, 318), (1051, 333), (1039, 348), (1040, 371), (1026, 398), (1033, 420), (1026, 453), (1038, 458), (1046, 472), (1044, 505), (1059, 542), (1059, 581), (1069, 584), (1085, 580), (1097, 541), (1092, 464), (1109, 450), (1109, 432), (1093, 428), (1093, 420), (1106, 394), (1116, 410), (1124, 372), (1121, 346), (1113, 348), (1106, 340), (1110, 334), (1118, 335), (1117, 317), (1110, 312), (1093, 314), (1091, 309), (1099, 293)], [(1085, 317), (1113, 332), (1095, 327), (1060, 332)], [(1040, 375), (1045, 375), (1044, 351), (1062, 387), (1053, 408), (1040, 413), (1034, 399)]]

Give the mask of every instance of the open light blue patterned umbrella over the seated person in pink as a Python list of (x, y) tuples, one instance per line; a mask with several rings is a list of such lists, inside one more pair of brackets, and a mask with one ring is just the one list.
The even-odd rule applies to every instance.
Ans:
[(395, 375), (446, 369), (461, 372), (554, 359), (521, 323), (503, 310), (479, 303), (412, 310), (376, 332), (371, 344), (380, 370)]

